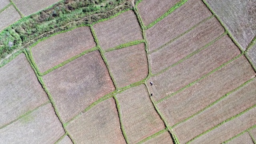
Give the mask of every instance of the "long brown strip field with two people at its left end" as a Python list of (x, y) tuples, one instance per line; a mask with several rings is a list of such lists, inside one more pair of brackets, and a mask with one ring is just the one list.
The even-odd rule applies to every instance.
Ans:
[[(239, 54), (240, 50), (226, 35), (166, 72), (151, 77), (148, 80), (148, 87), (150, 92), (154, 93), (153, 98), (160, 100), (208, 74)], [(153, 85), (150, 86), (149, 82), (153, 82)]]

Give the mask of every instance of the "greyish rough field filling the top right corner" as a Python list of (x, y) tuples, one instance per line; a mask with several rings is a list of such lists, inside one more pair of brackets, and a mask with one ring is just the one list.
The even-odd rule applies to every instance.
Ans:
[(255, 0), (206, 0), (245, 50), (256, 35)]

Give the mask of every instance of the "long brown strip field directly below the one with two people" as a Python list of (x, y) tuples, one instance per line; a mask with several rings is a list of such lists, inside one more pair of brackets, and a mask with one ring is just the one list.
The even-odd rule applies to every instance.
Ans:
[(192, 116), (255, 75), (244, 56), (158, 104), (172, 126)]

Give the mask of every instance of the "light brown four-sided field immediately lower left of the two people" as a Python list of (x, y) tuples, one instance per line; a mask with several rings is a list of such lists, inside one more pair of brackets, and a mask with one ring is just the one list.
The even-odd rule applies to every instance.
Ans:
[(150, 101), (146, 86), (140, 85), (117, 94), (124, 130), (131, 144), (165, 128)]

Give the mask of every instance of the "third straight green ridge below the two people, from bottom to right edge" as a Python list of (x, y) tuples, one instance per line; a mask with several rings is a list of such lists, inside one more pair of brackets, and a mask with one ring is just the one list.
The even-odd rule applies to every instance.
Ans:
[(229, 122), (230, 120), (233, 120), (233, 119), (235, 119), (235, 118), (241, 116), (242, 114), (248, 112), (249, 110), (251, 110), (252, 108), (255, 108), (255, 107), (256, 107), (256, 104), (254, 104), (253, 106), (251, 106), (251, 107), (247, 108), (246, 110), (240, 112), (239, 114), (236, 114), (235, 116), (232, 116), (232, 117), (230, 117), (230, 118), (224, 120), (224, 121), (221, 122), (220, 124), (218, 124), (218, 125), (216, 125), (216, 126), (210, 128), (209, 130), (206, 130), (205, 132), (199, 134), (198, 136), (195, 136), (195, 137), (192, 138), (190, 141), (188, 141), (187, 144), (189, 144), (190, 142), (192, 142), (192, 141), (195, 140), (196, 138), (199, 138), (200, 136), (203, 136), (204, 134), (206, 134), (206, 133), (208, 133), (208, 132), (214, 130), (215, 128), (218, 128), (218, 127), (221, 126), (222, 124), (225, 124), (226, 122)]

